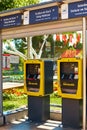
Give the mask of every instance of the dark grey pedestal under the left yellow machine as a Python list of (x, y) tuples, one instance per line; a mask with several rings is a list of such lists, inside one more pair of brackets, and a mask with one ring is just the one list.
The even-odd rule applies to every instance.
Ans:
[(50, 96), (28, 96), (28, 117), (34, 122), (50, 118)]

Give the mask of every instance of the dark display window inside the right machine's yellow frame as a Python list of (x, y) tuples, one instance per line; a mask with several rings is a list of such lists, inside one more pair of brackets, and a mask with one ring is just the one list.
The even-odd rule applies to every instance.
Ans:
[(78, 84), (78, 63), (61, 62), (60, 78), (63, 93), (76, 93)]

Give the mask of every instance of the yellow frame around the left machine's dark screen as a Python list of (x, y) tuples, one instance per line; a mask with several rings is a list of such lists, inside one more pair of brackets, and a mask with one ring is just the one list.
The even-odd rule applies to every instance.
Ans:
[[(26, 78), (27, 78), (27, 75), (26, 75), (26, 66), (30, 65), (30, 64), (39, 64), (40, 65), (40, 88), (39, 88), (39, 91), (29, 91), (27, 90), (27, 83), (26, 83)], [(31, 82), (29, 82), (31, 83)], [(32, 83), (31, 83), (32, 84)], [(36, 84), (36, 83), (33, 83), (33, 84)], [(25, 90), (25, 93), (27, 93), (28, 95), (31, 95), (31, 96), (43, 96), (44, 95), (44, 61), (41, 61), (41, 60), (27, 60), (24, 62), (24, 90)], [(36, 89), (35, 89), (36, 90)]]

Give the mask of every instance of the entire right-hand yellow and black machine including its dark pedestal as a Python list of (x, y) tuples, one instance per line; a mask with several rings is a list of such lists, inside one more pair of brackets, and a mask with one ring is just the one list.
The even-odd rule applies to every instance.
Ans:
[(61, 58), (58, 65), (58, 95), (62, 97), (62, 122), (65, 127), (79, 128), (82, 103), (82, 59)]

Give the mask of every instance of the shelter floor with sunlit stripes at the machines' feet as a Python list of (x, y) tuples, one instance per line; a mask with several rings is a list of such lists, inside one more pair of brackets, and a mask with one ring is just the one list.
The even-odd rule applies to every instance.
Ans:
[(0, 130), (81, 130), (63, 128), (60, 121), (47, 120), (44, 123), (32, 123), (28, 120), (20, 119), (10, 124), (0, 126)]

